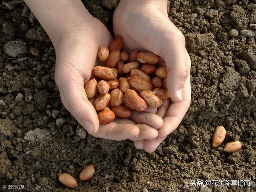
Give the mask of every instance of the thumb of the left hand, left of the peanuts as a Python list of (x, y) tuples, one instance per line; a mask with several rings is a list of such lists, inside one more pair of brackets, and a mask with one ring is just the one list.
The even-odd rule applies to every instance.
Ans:
[(87, 99), (84, 78), (79, 72), (56, 72), (55, 81), (60, 90), (62, 103), (89, 134), (99, 129), (97, 113)]

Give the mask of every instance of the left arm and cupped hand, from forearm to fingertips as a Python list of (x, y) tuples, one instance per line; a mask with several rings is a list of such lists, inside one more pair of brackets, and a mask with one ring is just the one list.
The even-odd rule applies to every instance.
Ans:
[(99, 126), (98, 116), (87, 99), (84, 84), (97, 64), (98, 48), (101, 45), (108, 46), (112, 36), (99, 20), (88, 13), (81, 1), (46, 1), (49, 2), (26, 0), (26, 3), (54, 45), (55, 81), (67, 110), (89, 134), (96, 137), (111, 140), (156, 138), (158, 132), (155, 128), (160, 128), (163, 121), (155, 114), (142, 113), (138, 118), (142, 123), (150, 118), (152, 121), (149, 125), (132, 121), (131, 124), (118, 124), (117, 119), (117, 122)]

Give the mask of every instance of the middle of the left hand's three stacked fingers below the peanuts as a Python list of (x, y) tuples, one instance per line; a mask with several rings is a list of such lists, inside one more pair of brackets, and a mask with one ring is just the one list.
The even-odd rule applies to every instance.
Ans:
[[(117, 118), (114, 121), (120, 124), (124, 124), (124, 123), (134, 124), (132, 120), (127, 118)], [(149, 126), (146, 124), (134, 124), (134, 125), (136, 125), (139, 128), (140, 133), (138, 134), (137, 137), (129, 138), (132, 141), (143, 140), (143, 139), (152, 140), (158, 136), (158, 131), (152, 126)]]

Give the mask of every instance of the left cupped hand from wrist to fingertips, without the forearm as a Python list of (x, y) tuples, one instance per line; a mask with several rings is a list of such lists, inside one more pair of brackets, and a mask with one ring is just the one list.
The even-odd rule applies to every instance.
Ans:
[(90, 21), (78, 22), (62, 30), (56, 39), (55, 81), (62, 103), (89, 134), (111, 140), (157, 137), (158, 132), (152, 126), (160, 128), (163, 121), (155, 114), (144, 113), (139, 118), (143, 123), (145, 116), (150, 117), (152, 122), (157, 122), (152, 123), (152, 126), (142, 127), (132, 121), (99, 125), (97, 113), (84, 90), (84, 84), (90, 79), (92, 68), (97, 64), (98, 48), (108, 46), (112, 40), (110, 32), (99, 20), (92, 17)]

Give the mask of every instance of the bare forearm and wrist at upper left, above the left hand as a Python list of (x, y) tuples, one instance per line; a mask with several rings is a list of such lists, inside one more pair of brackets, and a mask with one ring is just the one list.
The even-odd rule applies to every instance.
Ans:
[(55, 46), (61, 34), (72, 32), (81, 23), (91, 25), (95, 18), (80, 0), (24, 0)]

